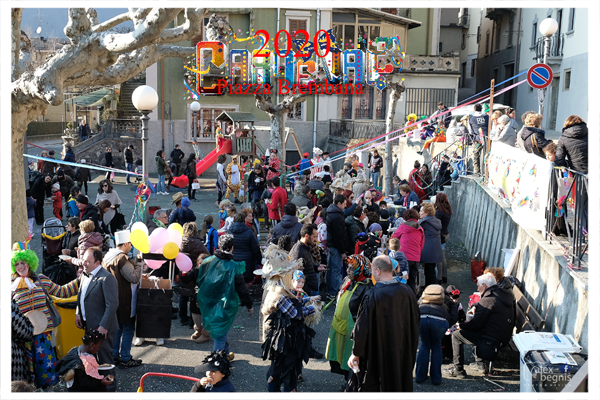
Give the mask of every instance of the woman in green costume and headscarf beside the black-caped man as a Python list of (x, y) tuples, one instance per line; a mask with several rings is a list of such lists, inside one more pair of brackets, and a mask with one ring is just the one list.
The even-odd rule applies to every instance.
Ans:
[(325, 357), (329, 360), (331, 372), (344, 375), (348, 380), (348, 359), (353, 345), (350, 333), (354, 329), (360, 303), (365, 293), (373, 287), (373, 282), (370, 279), (371, 262), (365, 256), (349, 256), (345, 263), (348, 275), (337, 294)]

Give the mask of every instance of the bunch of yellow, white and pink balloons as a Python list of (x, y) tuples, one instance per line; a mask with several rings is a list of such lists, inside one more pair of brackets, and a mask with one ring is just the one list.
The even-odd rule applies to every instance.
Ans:
[[(169, 225), (167, 229), (156, 228), (148, 236), (148, 228), (142, 222), (136, 222), (131, 226), (131, 244), (143, 254), (161, 254), (167, 260), (175, 260), (177, 268), (187, 272), (192, 269), (192, 260), (179, 252), (183, 240), (183, 228), (178, 223)], [(164, 261), (145, 260), (148, 267), (158, 269)]]

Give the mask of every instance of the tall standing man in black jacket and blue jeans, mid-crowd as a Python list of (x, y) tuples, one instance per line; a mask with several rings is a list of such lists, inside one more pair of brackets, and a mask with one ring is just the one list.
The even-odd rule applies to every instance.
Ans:
[(346, 196), (338, 194), (333, 198), (333, 204), (327, 207), (327, 300), (337, 295), (342, 279), (342, 260), (346, 259), (346, 224), (344, 223), (344, 208)]

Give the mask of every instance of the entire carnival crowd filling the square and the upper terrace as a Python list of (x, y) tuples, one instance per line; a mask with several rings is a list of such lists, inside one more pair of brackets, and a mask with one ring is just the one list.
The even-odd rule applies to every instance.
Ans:
[[(476, 173), (482, 141), (488, 136), (587, 173), (587, 127), (580, 117), (567, 118), (563, 135), (554, 144), (544, 137), (541, 116), (534, 112), (523, 116), (525, 125), (519, 132), (515, 110), (495, 113), (488, 134), (485, 108), (476, 105), (473, 116), (457, 123), (442, 114), (447, 109), (441, 104), (436, 117), (439, 135), (462, 137), (474, 145)], [(128, 170), (134, 165), (132, 151), (130, 146), (125, 152)], [(51, 153), (42, 155), (54, 158)], [(107, 148), (106, 166), (113, 165), (110, 153)], [(228, 332), (239, 305), (253, 315), (251, 296), (260, 291), (262, 356), (271, 361), (268, 391), (297, 390), (303, 363), (323, 357), (333, 373), (344, 376), (348, 391), (412, 391), (414, 382), (427, 379), (439, 385), (444, 356), (453, 362), (448, 376), (466, 376), (464, 344), (476, 346), (474, 368), (485, 372), (484, 361), (493, 360), (512, 335), (516, 320), (512, 286), (517, 282), (505, 277), (501, 268), (488, 268), (478, 278), (480, 300), (465, 312), (459, 302), (461, 290), (448, 280), (445, 245), (452, 205), (446, 194), (433, 191), (432, 183), (443, 187), (455, 178), (456, 155), (444, 155), (437, 171), (415, 161), (405, 179), (393, 178), (391, 197), (381, 193), (383, 157), (377, 151), (369, 155), (368, 171), (357, 156), (351, 156), (337, 173), (327, 153), (315, 148), (313, 155), (310, 159), (305, 154), (288, 175), (276, 150), (262, 159), (234, 159), (227, 167), (226, 158), (220, 157), (218, 216), (207, 215), (200, 224), (191, 209), (196, 200), (191, 186), (196, 178), (195, 154), (185, 162), (176, 146), (167, 162), (163, 151), (157, 153), (159, 194), (168, 194), (169, 176), (186, 174), (190, 186), (187, 197), (180, 192), (173, 195), (173, 208), (151, 214), (146, 221), (149, 233), (175, 223), (183, 227), (180, 250), (190, 256), (193, 266), (189, 272), (178, 272), (177, 315), (193, 328), (191, 340), (214, 341), (213, 352), (197, 368), (206, 377), (192, 390), (235, 390), (229, 379), (235, 354)], [(75, 161), (72, 149), (67, 148), (63, 161)], [(141, 257), (132, 256), (114, 175), (107, 173), (95, 204), (90, 204), (91, 173), (85, 160), (79, 163), (83, 166), (75, 170), (60, 161), (40, 161), (32, 168), (27, 193), (30, 231), (34, 222), (44, 224), (44, 203), (52, 199), (54, 217), (67, 224), (62, 254), (69, 256), (66, 262), (74, 279), (59, 285), (36, 273), (39, 260), (32, 250), (14, 249), (12, 380), (47, 388), (60, 378), (71, 391), (114, 390), (115, 377), (101, 375), (100, 365), (142, 364), (131, 355), (132, 345), (148, 339), (134, 337), (142, 274), (171, 277), (167, 263), (151, 269)], [(259, 245), (261, 230), (268, 232), (267, 248)], [(113, 248), (105, 246), (104, 235), (114, 238)], [(282, 264), (275, 268), (277, 263)], [(82, 344), (58, 363), (51, 332), (59, 322), (45, 301), (48, 293), (77, 295), (76, 326), (85, 329)], [(222, 302), (223, 298), (229, 301)], [(323, 354), (312, 346), (311, 326), (325, 302), (334, 304), (335, 311)], [(33, 312), (38, 312), (37, 320), (30, 315)], [(285, 344), (278, 342), (282, 337)], [(153, 339), (164, 344), (162, 338)]]

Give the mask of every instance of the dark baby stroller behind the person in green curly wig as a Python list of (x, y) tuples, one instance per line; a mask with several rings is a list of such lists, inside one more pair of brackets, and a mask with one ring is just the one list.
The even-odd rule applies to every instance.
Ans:
[(57, 285), (64, 285), (75, 279), (69, 264), (58, 257), (62, 253), (62, 241), (66, 233), (60, 219), (52, 217), (44, 221), (41, 271)]

